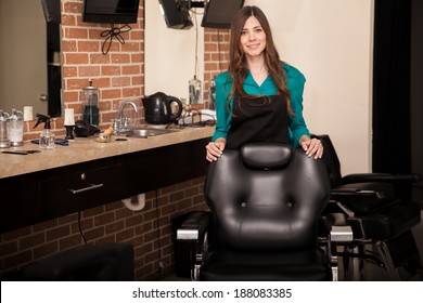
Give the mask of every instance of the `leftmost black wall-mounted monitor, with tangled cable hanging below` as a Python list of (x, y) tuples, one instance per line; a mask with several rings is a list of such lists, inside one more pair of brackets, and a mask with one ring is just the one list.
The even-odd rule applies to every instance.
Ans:
[(84, 0), (82, 21), (88, 23), (137, 23), (140, 0)]

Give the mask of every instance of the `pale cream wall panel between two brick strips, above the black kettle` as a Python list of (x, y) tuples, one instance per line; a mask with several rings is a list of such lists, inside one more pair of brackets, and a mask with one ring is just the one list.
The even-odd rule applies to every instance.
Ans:
[[(170, 29), (159, 10), (158, 0), (145, 0), (145, 95), (162, 91), (189, 98), (188, 81), (195, 74), (197, 42), (197, 79), (204, 75), (204, 29), (200, 26), (204, 9), (196, 9), (197, 23), (191, 29)], [(198, 29), (196, 35), (195, 27)]]

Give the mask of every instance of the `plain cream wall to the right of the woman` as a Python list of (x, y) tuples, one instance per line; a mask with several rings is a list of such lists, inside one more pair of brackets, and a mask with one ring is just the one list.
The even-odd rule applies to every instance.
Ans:
[(373, 0), (246, 0), (268, 16), (281, 58), (307, 82), (304, 114), (329, 133), (343, 173), (371, 171)]

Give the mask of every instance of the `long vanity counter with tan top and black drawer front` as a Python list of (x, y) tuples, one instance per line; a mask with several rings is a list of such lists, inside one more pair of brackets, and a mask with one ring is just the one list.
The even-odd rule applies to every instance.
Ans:
[(77, 137), (37, 154), (0, 154), (0, 233), (203, 176), (213, 132), (185, 128), (108, 143)]

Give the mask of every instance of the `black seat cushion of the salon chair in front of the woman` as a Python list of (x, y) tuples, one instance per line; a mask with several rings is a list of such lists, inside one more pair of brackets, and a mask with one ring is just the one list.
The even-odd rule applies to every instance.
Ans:
[(201, 280), (312, 281), (332, 280), (322, 250), (240, 252), (214, 250), (202, 266)]

